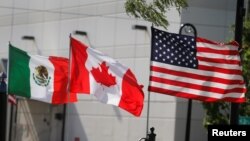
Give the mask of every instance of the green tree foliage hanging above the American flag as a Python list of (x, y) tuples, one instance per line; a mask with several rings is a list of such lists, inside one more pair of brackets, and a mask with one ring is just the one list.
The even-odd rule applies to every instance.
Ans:
[(187, 2), (186, 0), (153, 0), (152, 3), (147, 3), (145, 0), (127, 0), (125, 3), (128, 15), (142, 18), (164, 28), (169, 25), (165, 13), (173, 6), (180, 12), (181, 8), (187, 7)]

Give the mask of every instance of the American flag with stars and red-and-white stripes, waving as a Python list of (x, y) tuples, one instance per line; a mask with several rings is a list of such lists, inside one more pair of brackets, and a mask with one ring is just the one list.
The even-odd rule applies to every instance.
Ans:
[(152, 27), (149, 91), (206, 102), (245, 102), (237, 42), (217, 43)]

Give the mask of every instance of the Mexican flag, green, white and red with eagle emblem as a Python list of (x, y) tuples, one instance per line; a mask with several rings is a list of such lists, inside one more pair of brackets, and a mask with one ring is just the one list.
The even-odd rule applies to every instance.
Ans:
[(8, 94), (46, 103), (76, 102), (68, 93), (68, 59), (29, 55), (9, 45)]

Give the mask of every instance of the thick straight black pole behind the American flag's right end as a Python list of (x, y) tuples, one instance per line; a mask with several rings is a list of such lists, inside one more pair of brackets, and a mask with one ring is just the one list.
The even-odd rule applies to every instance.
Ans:
[[(242, 29), (243, 29), (244, 15), (245, 15), (244, 0), (237, 0), (234, 40), (239, 43), (239, 50), (242, 47)], [(231, 115), (230, 124), (237, 125), (239, 122), (239, 104), (231, 103), (230, 115)]]

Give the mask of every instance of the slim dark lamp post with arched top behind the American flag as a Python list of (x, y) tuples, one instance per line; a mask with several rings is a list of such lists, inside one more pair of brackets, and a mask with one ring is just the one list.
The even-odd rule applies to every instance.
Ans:
[[(197, 31), (194, 25), (190, 23), (183, 24), (179, 30), (179, 34), (182, 34), (183, 30), (188, 34), (193, 33), (194, 37), (195, 38), (197, 37)], [(191, 115), (192, 115), (192, 100), (188, 99), (185, 141), (189, 141), (190, 139)]]

